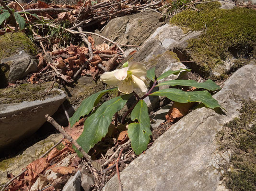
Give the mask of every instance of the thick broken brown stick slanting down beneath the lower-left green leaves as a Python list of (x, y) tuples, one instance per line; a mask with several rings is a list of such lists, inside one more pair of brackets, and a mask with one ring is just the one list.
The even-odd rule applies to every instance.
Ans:
[(73, 143), (73, 145), (83, 154), (83, 156), (85, 157), (85, 159), (87, 161), (91, 161), (91, 156), (89, 156), (82, 148), (81, 146), (70, 136), (66, 133), (66, 131), (64, 129), (62, 129), (62, 127), (60, 125), (58, 125), (58, 123), (49, 115), (46, 115), (47, 121), (52, 124), (56, 129), (58, 129), (58, 131), (65, 137), (67, 138), (70, 142)]

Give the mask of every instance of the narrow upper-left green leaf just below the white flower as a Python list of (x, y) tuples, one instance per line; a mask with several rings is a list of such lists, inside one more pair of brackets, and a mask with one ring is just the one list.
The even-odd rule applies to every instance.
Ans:
[(105, 93), (116, 90), (116, 89), (117, 89), (117, 87), (111, 88), (111, 89), (106, 89), (106, 90), (97, 92), (96, 94), (93, 94), (92, 96), (87, 97), (86, 99), (84, 99), (82, 101), (80, 107), (74, 113), (74, 115), (72, 117), (70, 117), (70, 127), (73, 127), (73, 125), (77, 121), (79, 121), (81, 116), (88, 115), (93, 110), (93, 107), (95, 107), (99, 103), (100, 98)]

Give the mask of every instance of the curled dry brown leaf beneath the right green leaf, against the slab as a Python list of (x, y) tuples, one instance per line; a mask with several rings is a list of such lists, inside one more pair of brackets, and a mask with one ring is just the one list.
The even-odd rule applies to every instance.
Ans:
[(165, 116), (167, 122), (174, 122), (175, 119), (186, 116), (189, 109), (194, 106), (195, 102), (189, 102), (186, 104), (174, 102), (173, 106), (170, 108), (168, 114)]

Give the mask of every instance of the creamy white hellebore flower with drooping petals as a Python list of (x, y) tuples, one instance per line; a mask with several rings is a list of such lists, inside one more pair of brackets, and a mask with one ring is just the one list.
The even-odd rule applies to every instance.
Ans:
[(118, 85), (118, 90), (124, 94), (130, 94), (138, 87), (142, 92), (147, 91), (145, 85), (147, 70), (139, 62), (130, 62), (128, 67), (105, 72), (101, 75), (101, 81), (108, 85)]

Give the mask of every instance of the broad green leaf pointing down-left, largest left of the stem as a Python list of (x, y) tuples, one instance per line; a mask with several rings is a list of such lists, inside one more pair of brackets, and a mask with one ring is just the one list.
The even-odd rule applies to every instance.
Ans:
[(106, 101), (85, 120), (83, 132), (76, 140), (85, 152), (89, 152), (97, 142), (105, 137), (113, 115), (125, 106), (131, 96), (132, 94), (127, 94)]

